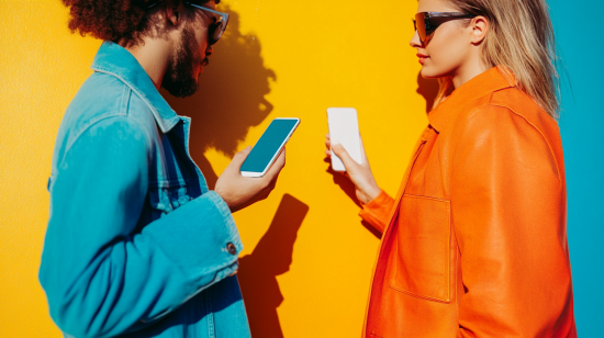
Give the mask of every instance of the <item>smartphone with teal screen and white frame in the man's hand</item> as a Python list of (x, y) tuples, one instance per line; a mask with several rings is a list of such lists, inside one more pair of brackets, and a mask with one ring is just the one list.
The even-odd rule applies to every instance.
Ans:
[(278, 117), (272, 120), (245, 159), (241, 169), (242, 174), (245, 177), (265, 176), (299, 124), (300, 119), (297, 117)]

